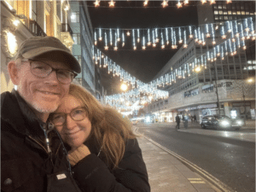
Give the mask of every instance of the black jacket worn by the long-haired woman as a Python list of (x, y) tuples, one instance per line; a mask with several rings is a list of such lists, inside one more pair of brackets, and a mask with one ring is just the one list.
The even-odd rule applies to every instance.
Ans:
[[(94, 192), (149, 192), (148, 173), (137, 139), (125, 145), (125, 155), (118, 168), (108, 169), (108, 162), (93, 139), (84, 143), (91, 154), (73, 167), (80, 189)], [(99, 156), (97, 156), (99, 154)]]

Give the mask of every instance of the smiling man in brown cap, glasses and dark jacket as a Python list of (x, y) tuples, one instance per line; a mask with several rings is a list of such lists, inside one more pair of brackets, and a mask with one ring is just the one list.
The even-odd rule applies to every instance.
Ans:
[(79, 62), (59, 39), (33, 37), (20, 44), (8, 71), (17, 90), (1, 95), (1, 191), (64, 186), (67, 156), (47, 119), (80, 73)]

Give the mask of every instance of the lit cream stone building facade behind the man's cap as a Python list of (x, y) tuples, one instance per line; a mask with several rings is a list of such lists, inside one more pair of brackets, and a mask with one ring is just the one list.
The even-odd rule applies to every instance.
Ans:
[(72, 49), (68, 1), (1, 1), (1, 93), (11, 91), (7, 65), (19, 44), (33, 36), (54, 36)]

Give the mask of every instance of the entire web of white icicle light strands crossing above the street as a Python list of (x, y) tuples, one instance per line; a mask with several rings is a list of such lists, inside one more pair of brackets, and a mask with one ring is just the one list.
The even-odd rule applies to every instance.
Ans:
[[(210, 27), (208, 27), (210, 26)], [(166, 47), (168, 44), (167, 41), (169, 40), (169, 34), (171, 35), (172, 40), (172, 49), (177, 48), (177, 41), (176, 41), (176, 32), (178, 35), (179, 42), (182, 39), (183, 40), (183, 48), (186, 48), (187, 46), (187, 37), (186, 37), (186, 31), (189, 31), (189, 38), (190, 36), (195, 37), (194, 40), (196, 44), (206, 44), (205, 38), (207, 38), (207, 33), (211, 32), (211, 38), (207, 38), (208, 42), (212, 41), (217, 44), (215, 39), (215, 29), (213, 24), (207, 24), (206, 26), (202, 27), (199, 26), (198, 28), (195, 28), (195, 32), (192, 33), (192, 27), (171, 27), (171, 28), (165, 28), (164, 30), (154, 28), (152, 30), (147, 29), (144, 32), (148, 32), (148, 43), (156, 44), (155, 39), (160, 38), (160, 46), (162, 49)], [(210, 30), (209, 30), (210, 28)], [(205, 29), (205, 32), (203, 32)], [(103, 29), (102, 29), (103, 30)], [(143, 83), (142, 81), (136, 79), (133, 77), (130, 73), (125, 72), (124, 69), (122, 69), (119, 65), (117, 65), (115, 62), (113, 62), (111, 59), (108, 58), (107, 55), (104, 55), (101, 50), (96, 49), (96, 46), (94, 46), (93, 49), (93, 58), (95, 60), (96, 64), (99, 64), (99, 67), (108, 67), (108, 73), (112, 73), (113, 76), (118, 76), (121, 81), (123, 81), (125, 84), (131, 85), (131, 88), (133, 90), (129, 90), (122, 94), (116, 94), (113, 96), (107, 96), (106, 102), (110, 105), (115, 106), (116, 108), (131, 108), (131, 103), (134, 102), (152, 102), (159, 99), (164, 99), (168, 97), (168, 92), (164, 90), (159, 90), (158, 88), (164, 87), (164, 86), (170, 86), (173, 83), (176, 83), (178, 79), (185, 79), (189, 77), (192, 73), (201, 73), (202, 68), (207, 68), (207, 63), (216, 61), (219, 57), (221, 60), (224, 60), (224, 56), (226, 55), (236, 55), (237, 51), (241, 49), (246, 49), (245, 40), (246, 39), (253, 39), (254, 36), (254, 26), (253, 26), (253, 18), (246, 18), (244, 20), (232, 20), (232, 21), (226, 21), (223, 26), (219, 27), (219, 34), (221, 35), (221, 38), (218, 39), (218, 44), (215, 45), (212, 49), (208, 49), (206, 53), (202, 53), (200, 56), (196, 57), (195, 60), (183, 63), (181, 66), (177, 68), (171, 68), (170, 73), (166, 73), (165, 75), (154, 79), (153, 81), (149, 82), (148, 84)], [(114, 31), (114, 34), (116, 36), (115, 38), (115, 46), (118, 38), (118, 32), (112, 29)], [(121, 30), (122, 32), (122, 42), (125, 43), (125, 31)], [(140, 30), (132, 29), (132, 42), (133, 46), (137, 48), (137, 42), (136, 38), (138, 39), (140, 37), (140, 34), (143, 34)], [(135, 37), (135, 32), (137, 31), (137, 37)], [(106, 39), (108, 37), (106, 30), (104, 30), (105, 33), (105, 47), (108, 47), (108, 40)], [(110, 31), (111, 32), (111, 31)], [(109, 33), (110, 33), (109, 32)], [(160, 32), (160, 37), (158, 37), (158, 32)], [(165, 33), (165, 34), (164, 34)], [(99, 38), (101, 37), (102, 33), (99, 33)], [(166, 35), (168, 38), (166, 38)], [(111, 34), (112, 36), (112, 34)], [(143, 49), (146, 49), (146, 35), (143, 36), (142, 40), (142, 46)], [(224, 38), (225, 36), (225, 38)], [(235, 38), (235, 41), (233, 40)], [(95, 39), (97, 39), (95, 37)], [(197, 39), (197, 40), (196, 40)], [(222, 39), (222, 41), (221, 41)], [(112, 41), (112, 38), (109, 39), (109, 41)], [(214, 44), (213, 44), (214, 45)], [(185, 46), (185, 47), (184, 47)], [(103, 64), (102, 64), (103, 63)], [(151, 97), (152, 99), (148, 99), (148, 97)], [(143, 99), (142, 99), (143, 98)], [(125, 102), (129, 102), (130, 104), (127, 104)]]

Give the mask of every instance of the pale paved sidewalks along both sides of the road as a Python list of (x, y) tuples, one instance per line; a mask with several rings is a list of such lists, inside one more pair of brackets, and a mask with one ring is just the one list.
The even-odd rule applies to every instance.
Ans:
[[(159, 123), (166, 126), (175, 123)], [(156, 124), (154, 124), (155, 126)], [(253, 126), (243, 129), (255, 129)], [(255, 131), (252, 133), (241, 133), (236, 131), (212, 131), (199, 129), (200, 125), (189, 122), (189, 129), (184, 129), (183, 124), (178, 131), (187, 131), (196, 134), (211, 135), (216, 137), (232, 137), (247, 142), (255, 143)], [(192, 128), (193, 127), (193, 128)], [(207, 134), (206, 134), (207, 133)], [(201, 170), (191, 162), (172, 151), (160, 146), (148, 137), (138, 137), (140, 148), (143, 151), (143, 160), (148, 170), (149, 184), (152, 192), (220, 192), (233, 191), (211, 174)], [(200, 173), (200, 174), (199, 174)], [(204, 176), (204, 177), (201, 177)]]

